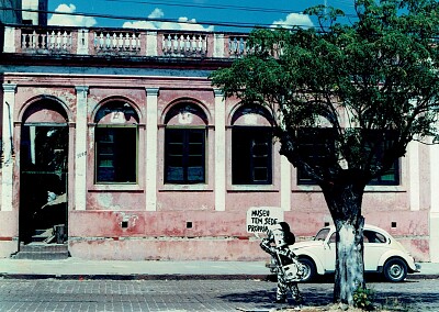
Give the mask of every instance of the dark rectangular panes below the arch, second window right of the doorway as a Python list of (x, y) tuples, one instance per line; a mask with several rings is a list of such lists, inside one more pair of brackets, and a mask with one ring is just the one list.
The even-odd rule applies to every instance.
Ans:
[(205, 182), (205, 129), (166, 129), (166, 183)]

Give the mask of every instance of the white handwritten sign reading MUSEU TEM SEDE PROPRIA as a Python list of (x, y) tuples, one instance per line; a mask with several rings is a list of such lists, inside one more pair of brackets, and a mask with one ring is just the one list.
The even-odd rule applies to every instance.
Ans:
[(283, 210), (279, 207), (251, 207), (247, 210), (247, 232), (266, 233), (271, 225), (283, 221)]

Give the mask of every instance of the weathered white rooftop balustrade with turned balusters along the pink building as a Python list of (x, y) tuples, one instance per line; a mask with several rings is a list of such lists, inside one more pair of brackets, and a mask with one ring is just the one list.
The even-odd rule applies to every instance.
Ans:
[(237, 58), (248, 48), (246, 34), (7, 25), (3, 52)]

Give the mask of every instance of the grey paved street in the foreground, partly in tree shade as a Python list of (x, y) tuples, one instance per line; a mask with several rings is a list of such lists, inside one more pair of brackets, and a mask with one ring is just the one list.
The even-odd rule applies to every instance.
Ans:
[[(374, 282), (376, 302), (398, 311), (439, 311), (439, 280)], [(331, 301), (331, 283), (300, 285), (306, 303)], [(0, 311), (263, 311), (275, 283), (260, 280), (0, 279)]]

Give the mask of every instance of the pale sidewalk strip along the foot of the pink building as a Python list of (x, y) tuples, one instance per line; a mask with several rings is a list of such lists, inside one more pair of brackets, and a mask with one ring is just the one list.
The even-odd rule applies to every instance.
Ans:
[[(408, 279), (438, 279), (439, 264), (421, 263)], [(122, 261), (0, 259), (0, 278), (249, 279), (270, 274), (264, 261)]]

